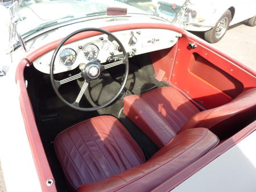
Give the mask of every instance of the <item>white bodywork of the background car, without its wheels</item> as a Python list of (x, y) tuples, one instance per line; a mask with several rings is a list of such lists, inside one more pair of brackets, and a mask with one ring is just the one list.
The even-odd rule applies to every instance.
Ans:
[[(183, 1), (168, 1), (160, 0), (154, 1), (156, 11), (160, 2), (166, 3), (177, 3), (182, 4)], [(226, 10), (232, 12), (232, 20), (229, 26), (240, 23), (243, 20), (252, 18), (256, 15), (256, 1), (255, 0), (216, 0), (216, 1), (203, 1), (203, 0), (192, 0), (190, 9), (197, 12), (195, 19), (190, 20), (189, 23), (185, 23), (183, 28), (188, 31), (208, 31), (213, 28), (218, 19), (224, 14)], [(162, 15), (163, 16), (163, 15)]]

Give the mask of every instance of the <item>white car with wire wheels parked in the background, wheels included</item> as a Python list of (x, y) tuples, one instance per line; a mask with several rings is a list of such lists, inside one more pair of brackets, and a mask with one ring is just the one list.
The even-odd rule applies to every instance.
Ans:
[[(155, 0), (152, 2), (156, 15), (166, 19), (171, 18), (171, 20), (182, 5), (179, 0)], [(256, 23), (255, 0), (191, 0), (187, 3), (190, 5), (185, 10), (182, 27), (188, 31), (204, 32), (204, 39), (209, 43), (221, 40), (229, 26), (243, 20), (252, 27)]]

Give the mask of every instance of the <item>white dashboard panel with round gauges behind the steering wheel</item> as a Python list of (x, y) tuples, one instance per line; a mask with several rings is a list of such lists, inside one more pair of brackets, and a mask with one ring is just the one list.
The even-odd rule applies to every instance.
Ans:
[[(172, 47), (180, 35), (163, 29), (137, 29), (113, 32), (123, 44), (129, 57)], [(54, 50), (47, 52), (34, 61), (40, 72), (49, 74), (49, 66)], [(80, 64), (98, 61), (114, 62), (122, 58), (122, 50), (116, 41), (102, 34), (63, 45), (57, 53), (54, 73), (66, 72)]]

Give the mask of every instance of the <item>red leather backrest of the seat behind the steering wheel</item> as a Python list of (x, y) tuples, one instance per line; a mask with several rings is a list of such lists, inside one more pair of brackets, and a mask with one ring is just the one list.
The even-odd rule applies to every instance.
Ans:
[(186, 130), (146, 163), (106, 180), (83, 185), (78, 191), (151, 191), (217, 144), (217, 136), (206, 128)]

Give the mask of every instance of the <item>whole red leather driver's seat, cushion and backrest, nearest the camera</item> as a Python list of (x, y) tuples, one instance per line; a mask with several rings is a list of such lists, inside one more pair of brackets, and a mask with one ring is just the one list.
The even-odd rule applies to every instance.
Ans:
[(55, 150), (73, 190), (150, 191), (217, 144), (208, 129), (188, 129), (145, 162), (117, 119), (97, 116), (61, 132)]

